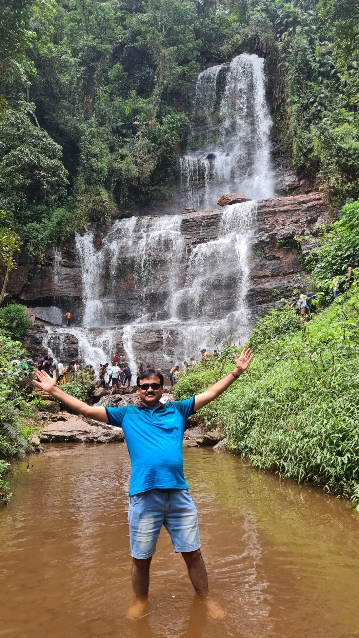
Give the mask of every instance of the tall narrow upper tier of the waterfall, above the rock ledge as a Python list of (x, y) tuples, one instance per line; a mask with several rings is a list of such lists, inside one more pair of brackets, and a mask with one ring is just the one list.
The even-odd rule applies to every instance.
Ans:
[[(225, 89), (215, 110), (221, 73)], [(253, 200), (273, 197), (264, 59), (241, 54), (200, 73), (195, 109), (199, 105), (210, 131), (218, 122), (218, 140), (181, 157), (182, 204), (208, 209), (229, 191)]]

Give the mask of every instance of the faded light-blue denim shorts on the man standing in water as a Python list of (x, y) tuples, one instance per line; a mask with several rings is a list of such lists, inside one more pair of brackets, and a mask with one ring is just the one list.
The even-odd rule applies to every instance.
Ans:
[(175, 552), (199, 549), (197, 510), (188, 489), (151, 489), (128, 497), (128, 523), (133, 558), (155, 553), (162, 525)]

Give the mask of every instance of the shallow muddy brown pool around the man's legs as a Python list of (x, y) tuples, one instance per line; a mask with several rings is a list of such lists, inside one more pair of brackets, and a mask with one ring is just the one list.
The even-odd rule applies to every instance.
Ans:
[(185, 449), (211, 595), (226, 615), (208, 617), (162, 529), (148, 614), (134, 622), (125, 444), (52, 445), (31, 459), (0, 510), (1, 638), (359, 636), (359, 519), (348, 503)]

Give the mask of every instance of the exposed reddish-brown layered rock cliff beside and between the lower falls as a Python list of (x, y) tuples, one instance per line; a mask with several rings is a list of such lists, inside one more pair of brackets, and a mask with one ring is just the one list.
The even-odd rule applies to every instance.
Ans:
[[(209, 211), (183, 212), (181, 216), (181, 236), (183, 237), (183, 254), (188, 260), (195, 247), (204, 242), (215, 241), (218, 237), (223, 209)], [(302, 248), (294, 239), (296, 235), (308, 232), (317, 235), (319, 227), (326, 223), (328, 206), (323, 202), (319, 192), (277, 197), (260, 200), (257, 203), (257, 216), (248, 243), (247, 302), (252, 312), (252, 322), (256, 315), (263, 315), (280, 297), (291, 297), (293, 288), (298, 288), (305, 273), (302, 269)], [(153, 218), (151, 218), (153, 219)], [(95, 246), (100, 248), (109, 228), (95, 229)], [(144, 288), (141, 299), (136, 286), (134, 272), (126, 265), (126, 255), (121, 259), (122, 271), (115, 278), (111, 276), (109, 267), (103, 264), (103, 271), (98, 273), (100, 295), (108, 325), (116, 325), (114, 340), (119, 354), (126, 357), (123, 349), (122, 326), (141, 316), (141, 304), (150, 308), (149, 321), (160, 321), (169, 318), (165, 309), (165, 301), (171, 292), (171, 276), (166, 263), (153, 265), (151, 286)], [(183, 260), (185, 257), (183, 257)], [(238, 277), (236, 262), (229, 259), (225, 277), (216, 274), (210, 282), (212, 297), (216, 304), (206, 308), (206, 316), (216, 319), (217, 309), (222, 316), (231, 313), (235, 304), (235, 286)], [(109, 293), (107, 294), (107, 291)], [(77, 259), (75, 241), (72, 238), (61, 251), (61, 260), (55, 263), (49, 255), (47, 263), (40, 269), (36, 263), (27, 263), (26, 256), (21, 255), (19, 269), (11, 274), (10, 294), (26, 302), (28, 306), (59, 306), (63, 311), (70, 309), (74, 325), (81, 325), (82, 320), (82, 272)], [(181, 318), (187, 319), (188, 308), (179, 307)], [(42, 324), (42, 325), (41, 325)], [(46, 322), (36, 320), (29, 330), (27, 348), (34, 350), (42, 345)], [(98, 329), (88, 329), (89, 332)], [(142, 359), (165, 364), (160, 350), (163, 346), (164, 334), (161, 327), (153, 325), (150, 329), (139, 327), (132, 334), (133, 350), (142, 353)], [(176, 327), (171, 327), (167, 334), (167, 354), (171, 357), (173, 344), (178, 339)], [(65, 357), (74, 358), (78, 353), (78, 339), (67, 332), (59, 337), (58, 348)], [(61, 342), (61, 343), (60, 343)]]

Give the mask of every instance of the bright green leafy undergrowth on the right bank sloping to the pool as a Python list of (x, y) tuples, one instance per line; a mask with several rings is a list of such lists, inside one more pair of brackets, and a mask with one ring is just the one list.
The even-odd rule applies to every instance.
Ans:
[[(257, 322), (250, 371), (196, 419), (257, 468), (351, 496), (359, 484), (359, 293), (340, 295), (305, 327), (288, 306)], [(233, 369), (231, 349), (176, 385), (176, 398)]]

